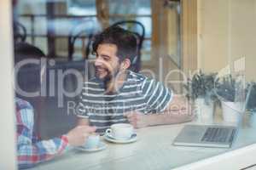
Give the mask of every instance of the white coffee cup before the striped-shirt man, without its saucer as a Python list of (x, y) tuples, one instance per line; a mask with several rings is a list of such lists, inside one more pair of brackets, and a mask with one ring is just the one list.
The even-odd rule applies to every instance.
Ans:
[(130, 139), (133, 132), (133, 127), (129, 123), (116, 123), (106, 130), (114, 139)]

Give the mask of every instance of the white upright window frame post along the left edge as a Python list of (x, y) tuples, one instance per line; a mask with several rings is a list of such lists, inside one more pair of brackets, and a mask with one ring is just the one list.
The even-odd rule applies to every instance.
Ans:
[(15, 105), (13, 87), (13, 33), (12, 33), (12, 6), (11, 1), (0, 1), (0, 59), (2, 72), (2, 83), (0, 92), (3, 98), (1, 106), (1, 128), (0, 133), (4, 134), (0, 142), (0, 169), (17, 169), (16, 165), (16, 144), (15, 144)]

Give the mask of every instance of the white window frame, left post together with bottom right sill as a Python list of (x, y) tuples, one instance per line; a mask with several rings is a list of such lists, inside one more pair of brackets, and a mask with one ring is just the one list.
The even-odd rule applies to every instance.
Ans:
[[(1, 58), (0, 70), (4, 72), (2, 75), (3, 81), (0, 84), (1, 94), (4, 99), (1, 99), (2, 119), (0, 133), (5, 134), (5, 138), (1, 139), (0, 144), (0, 169), (16, 169), (15, 156), (15, 105), (14, 91), (12, 87), (12, 65), (13, 65), (13, 38), (12, 38), (12, 22), (11, 22), (11, 2), (9, 0), (0, 1), (0, 30), (1, 41), (5, 42), (0, 46)], [(13, 114), (11, 114), (13, 113)], [(8, 132), (8, 133), (6, 133)], [(247, 145), (237, 150), (232, 150), (218, 156), (212, 156), (205, 160), (195, 161), (189, 165), (178, 167), (177, 169), (232, 169), (245, 168), (254, 165), (256, 162), (256, 144)], [(228, 160), (228, 161), (227, 161)]]

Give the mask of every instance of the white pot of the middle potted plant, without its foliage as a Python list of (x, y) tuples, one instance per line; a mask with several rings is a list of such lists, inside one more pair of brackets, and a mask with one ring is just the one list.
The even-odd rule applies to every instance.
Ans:
[(239, 102), (221, 102), (224, 122), (237, 124), (242, 117), (242, 104)]

